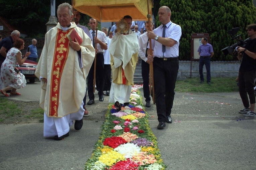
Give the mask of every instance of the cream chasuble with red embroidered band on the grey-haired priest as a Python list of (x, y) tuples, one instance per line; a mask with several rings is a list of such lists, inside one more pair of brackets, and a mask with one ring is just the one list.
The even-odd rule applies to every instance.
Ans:
[[(83, 42), (81, 44), (81, 60), (71, 48), (67, 33), (75, 29)], [(45, 45), (35, 71), (35, 75), (47, 78), (41, 81), (41, 97), (39, 106), (51, 117), (63, 117), (78, 112), (86, 92), (86, 77), (94, 60), (95, 50), (91, 39), (84, 31), (73, 23), (67, 31), (58, 23), (46, 33)]]

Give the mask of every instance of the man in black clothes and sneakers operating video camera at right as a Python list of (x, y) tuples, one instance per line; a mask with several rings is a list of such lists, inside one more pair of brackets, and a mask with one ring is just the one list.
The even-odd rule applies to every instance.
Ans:
[[(244, 116), (256, 116), (255, 114), (255, 93), (254, 83), (256, 76), (256, 24), (250, 24), (246, 27), (249, 36), (246, 39), (247, 44), (244, 47), (238, 46), (237, 58), (242, 60), (239, 68), (239, 94), (242, 99), (244, 109), (239, 113), (244, 113)], [(248, 96), (250, 99), (250, 104)]]

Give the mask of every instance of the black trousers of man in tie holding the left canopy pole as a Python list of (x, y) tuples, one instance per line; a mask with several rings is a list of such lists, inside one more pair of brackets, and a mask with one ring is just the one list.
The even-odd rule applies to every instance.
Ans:
[[(104, 73), (104, 56), (103, 53), (98, 53), (96, 55), (96, 84), (98, 95), (103, 95), (104, 81), (105, 81), (105, 73)], [(92, 63), (91, 69), (88, 73), (88, 97), (89, 100), (94, 100), (93, 93), (93, 78), (94, 78), (94, 61)]]

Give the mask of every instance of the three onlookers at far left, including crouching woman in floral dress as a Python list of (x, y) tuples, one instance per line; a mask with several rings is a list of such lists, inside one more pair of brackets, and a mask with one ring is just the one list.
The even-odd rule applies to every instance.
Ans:
[(5, 97), (21, 95), (16, 90), (26, 86), (26, 79), (16, 67), (16, 63), (22, 65), (27, 59), (36, 61), (37, 41), (33, 38), (32, 44), (28, 46), (29, 51), (22, 56), (20, 50), (24, 49), (24, 40), (20, 38), (18, 30), (14, 30), (4, 39), (1, 36), (0, 40), (0, 92)]

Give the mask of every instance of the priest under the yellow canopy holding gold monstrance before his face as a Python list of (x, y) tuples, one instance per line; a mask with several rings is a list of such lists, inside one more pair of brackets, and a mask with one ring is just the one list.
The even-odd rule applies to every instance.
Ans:
[(109, 102), (117, 110), (128, 106), (134, 85), (134, 72), (139, 52), (137, 35), (130, 30), (132, 17), (126, 15), (116, 23), (116, 32), (109, 46), (112, 84)]

